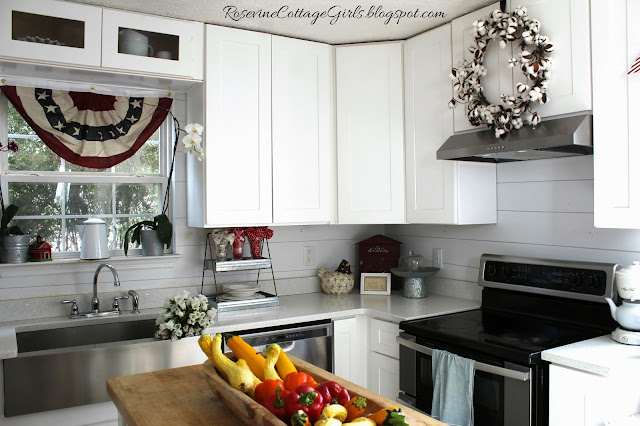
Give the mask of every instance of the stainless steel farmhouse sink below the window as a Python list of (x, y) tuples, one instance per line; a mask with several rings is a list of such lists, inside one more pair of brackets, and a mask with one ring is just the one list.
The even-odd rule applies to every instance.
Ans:
[(19, 416), (109, 401), (106, 379), (204, 362), (197, 337), (154, 339), (155, 319), (16, 333), (5, 359), (4, 414)]

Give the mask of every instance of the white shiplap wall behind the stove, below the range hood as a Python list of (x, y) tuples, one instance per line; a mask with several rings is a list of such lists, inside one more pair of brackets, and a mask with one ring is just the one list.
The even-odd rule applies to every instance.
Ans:
[(477, 282), (483, 253), (630, 264), (640, 231), (593, 226), (593, 157), (498, 165), (498, 223), (393, 225), (386, 235), (428, 260), (443, 249), (440, 284)]

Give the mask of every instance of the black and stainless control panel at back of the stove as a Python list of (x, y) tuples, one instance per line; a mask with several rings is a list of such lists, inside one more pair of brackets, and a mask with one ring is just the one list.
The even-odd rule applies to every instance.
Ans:
[(480, 261), (479, 284), (576, 299), (602, 300), (613, 295), (613, 277), (617, 266), (485, 254)]

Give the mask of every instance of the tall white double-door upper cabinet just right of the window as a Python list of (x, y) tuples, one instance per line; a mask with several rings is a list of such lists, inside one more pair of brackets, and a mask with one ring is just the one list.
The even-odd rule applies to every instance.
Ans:
[(335, 222), (333, 48), (213, 25), (206, 40), (205, 94), (187, 104), (206, 129), (189, 226)]

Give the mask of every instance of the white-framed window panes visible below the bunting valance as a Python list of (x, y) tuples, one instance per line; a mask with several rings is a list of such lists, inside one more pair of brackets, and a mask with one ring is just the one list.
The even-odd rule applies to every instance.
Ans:
[[(166, 188), (166, 120), (134, 156), (109, 169), (71, 164), (51, 151), (0, 95), (0, 119), (19, 151), (2, 152), (0, 171), (5, 202), (20, 207), (12, 224), (41, 235), (58, 257), (80, 250), (79, 230), (89, 217), (115, 227), (109, 247), (122, 250), (124, 233), (135, 222), (160, 213)], [(2, 123), (2, 121), (0, 121)], [(7, 138), (0, 139), (5, 145)]]

